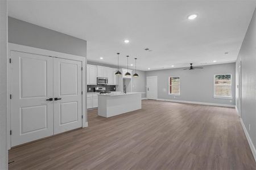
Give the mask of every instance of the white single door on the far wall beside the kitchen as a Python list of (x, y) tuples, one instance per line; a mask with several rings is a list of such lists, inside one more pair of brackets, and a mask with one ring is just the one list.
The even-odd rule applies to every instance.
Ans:
[(147, 77), (147, 99), (158, 99), (158, 78), (156, 76)]

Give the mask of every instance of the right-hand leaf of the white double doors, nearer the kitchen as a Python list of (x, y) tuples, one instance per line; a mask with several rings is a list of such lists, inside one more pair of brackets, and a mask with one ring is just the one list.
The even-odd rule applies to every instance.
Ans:
[(82, 127), (82, 63), (53, 58), (54, 134)]

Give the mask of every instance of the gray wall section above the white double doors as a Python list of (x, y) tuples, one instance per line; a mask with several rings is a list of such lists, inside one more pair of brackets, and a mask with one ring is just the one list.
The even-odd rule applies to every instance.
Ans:
[(38, 25), (8, 18), (9, 42), (86, 57), (86, 41)]

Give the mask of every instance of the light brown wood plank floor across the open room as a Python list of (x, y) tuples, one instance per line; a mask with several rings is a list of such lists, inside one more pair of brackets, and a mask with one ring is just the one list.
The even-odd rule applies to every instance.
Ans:
[(255, 169), (234, 108), (143, 100), (142, 109), (9, 151), (10, 169)]

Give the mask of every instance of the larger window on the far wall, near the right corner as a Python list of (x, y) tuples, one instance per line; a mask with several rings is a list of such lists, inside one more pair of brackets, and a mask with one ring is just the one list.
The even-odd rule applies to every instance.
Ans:
[(214, 97), (232, 98), (232, 75), (214, 75)]

